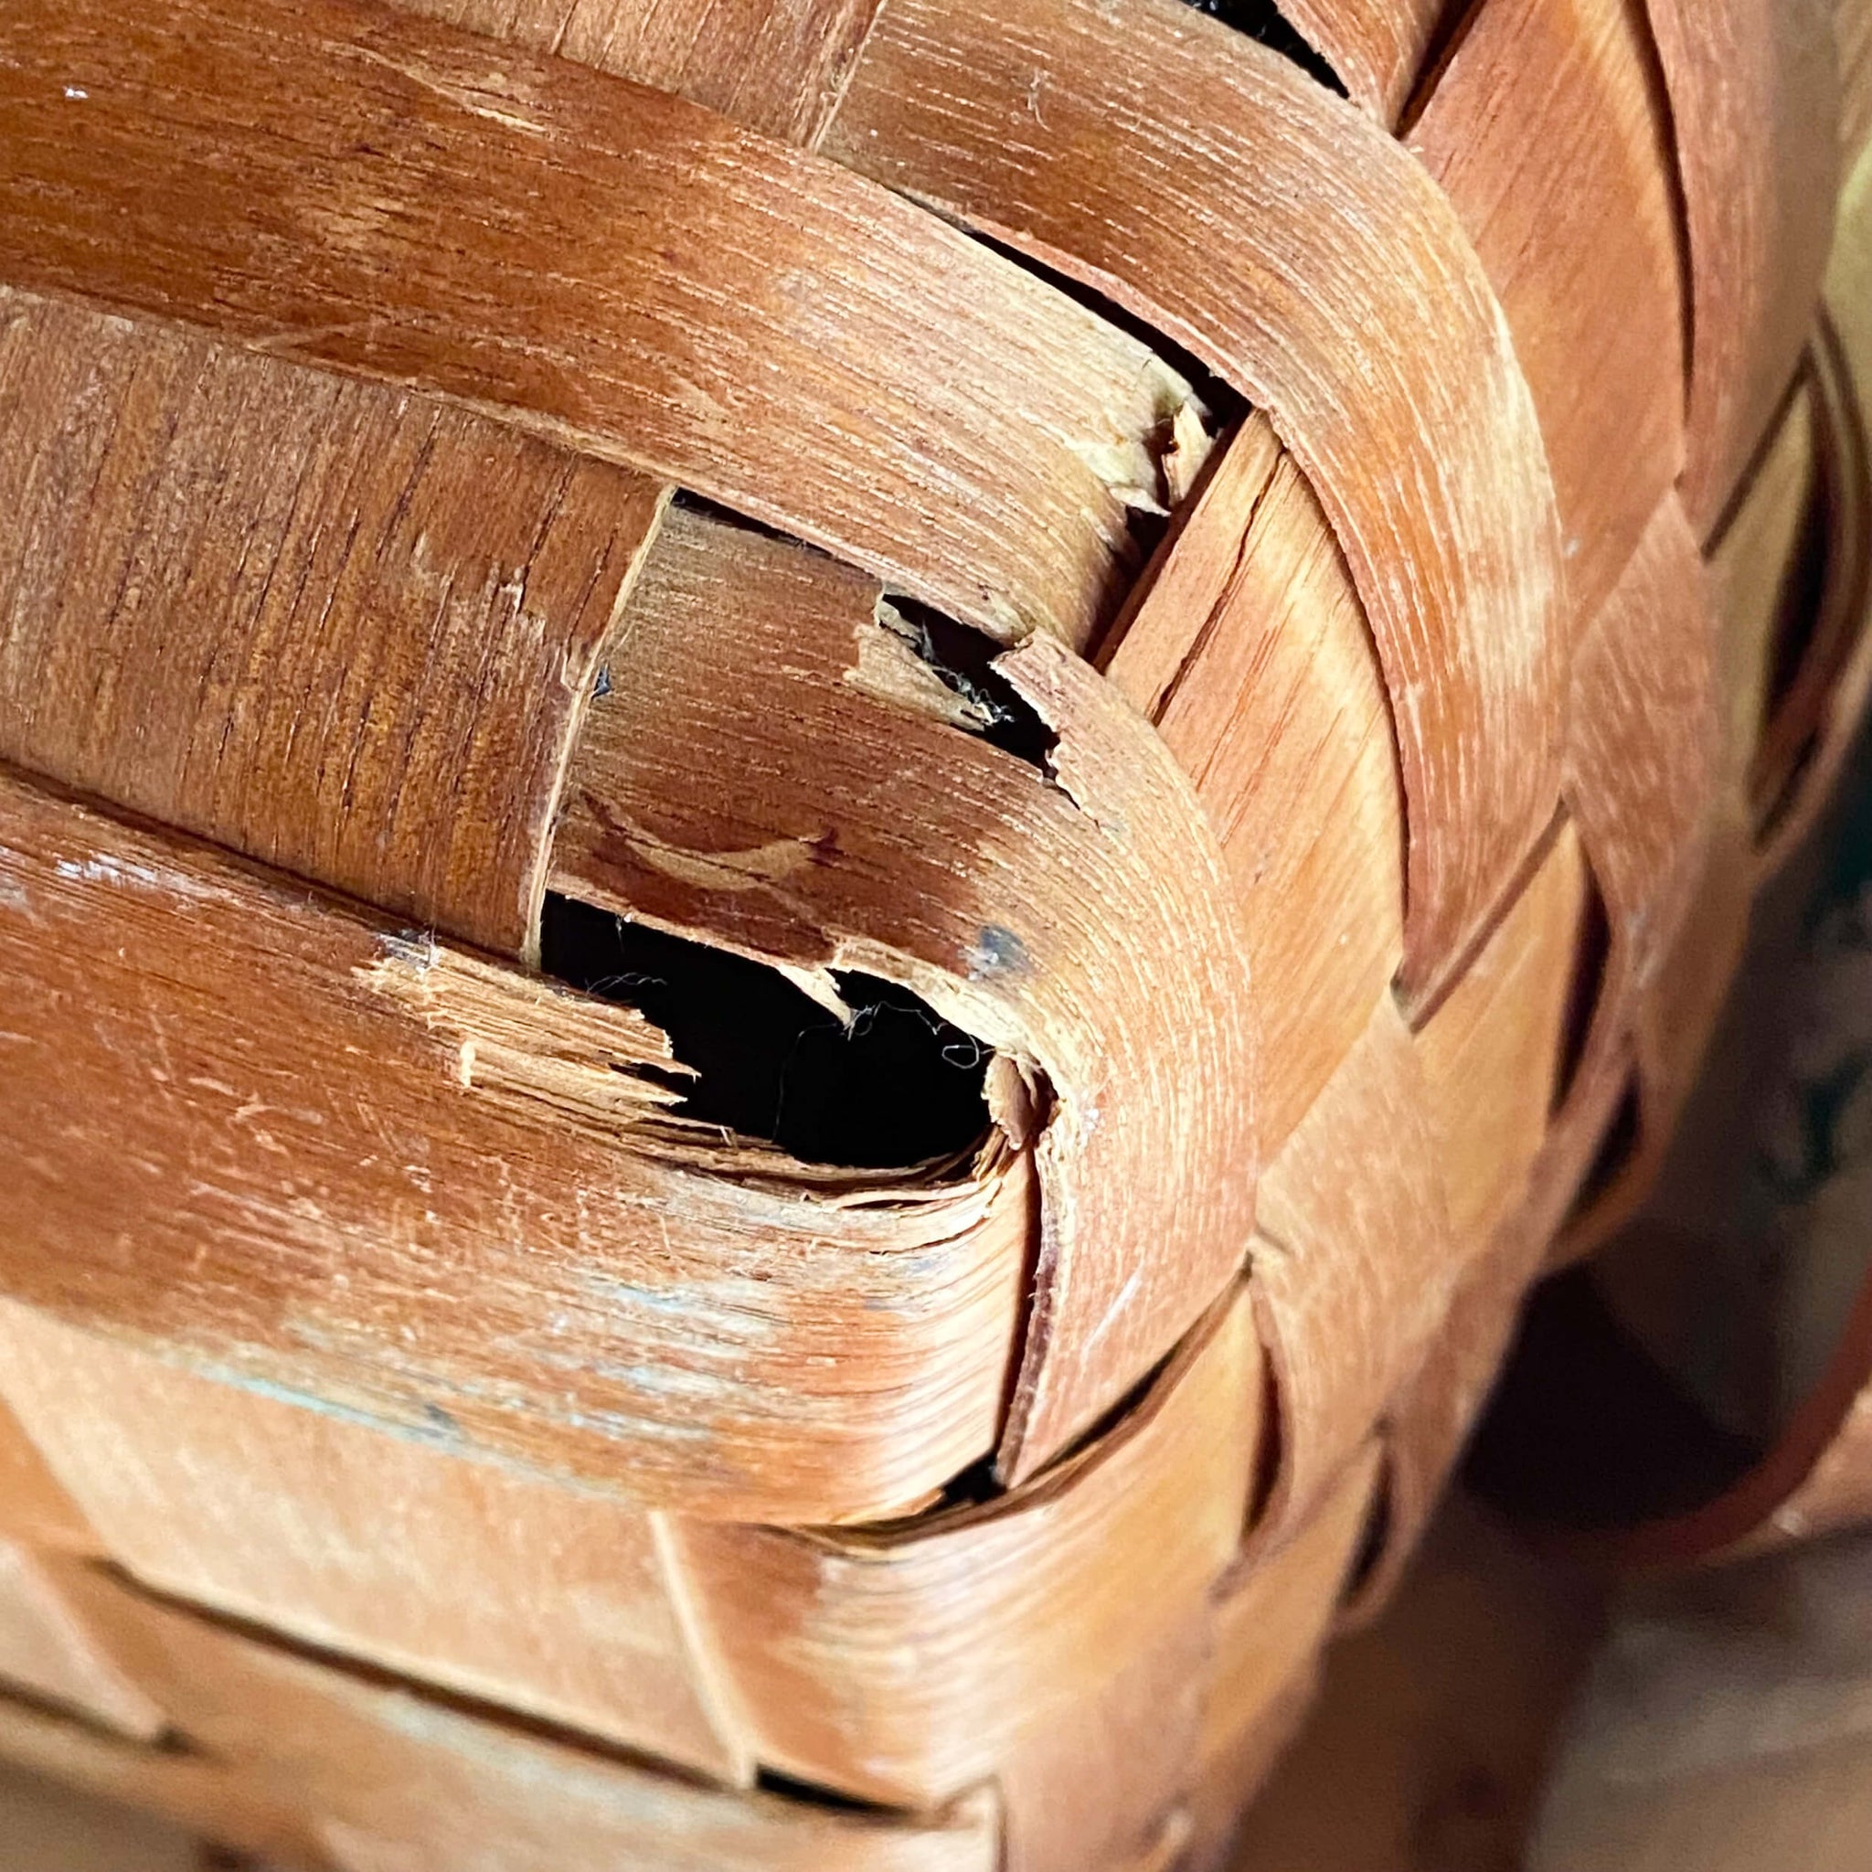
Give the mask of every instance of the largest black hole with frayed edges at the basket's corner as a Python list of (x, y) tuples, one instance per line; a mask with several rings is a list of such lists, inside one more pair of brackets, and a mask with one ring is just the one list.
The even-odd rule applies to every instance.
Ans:
[(680, 1082), (681, 1118), (852, 1170), (906, 1170), (987, 1136), (988, 1048), (895, 983), (835, 975), (846, 1026), (779, 970), (558, 895), (541, 966), (670, 1037), (698, 1075)]

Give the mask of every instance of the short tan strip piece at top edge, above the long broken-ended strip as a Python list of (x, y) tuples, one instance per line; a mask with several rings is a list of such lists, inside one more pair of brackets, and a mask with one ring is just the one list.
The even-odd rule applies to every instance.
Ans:
[(811, 150), (882, 0), (391, 0)]

